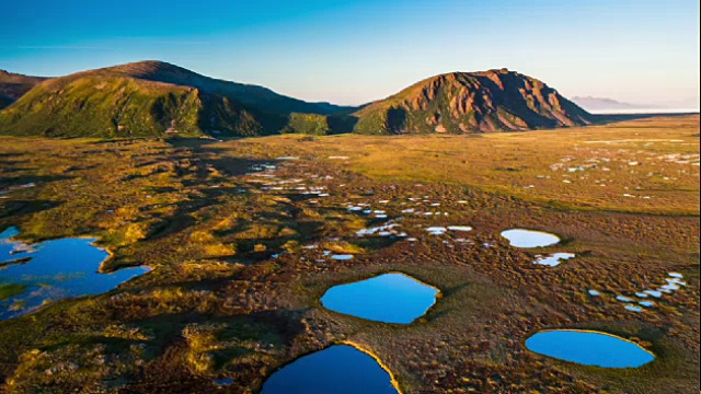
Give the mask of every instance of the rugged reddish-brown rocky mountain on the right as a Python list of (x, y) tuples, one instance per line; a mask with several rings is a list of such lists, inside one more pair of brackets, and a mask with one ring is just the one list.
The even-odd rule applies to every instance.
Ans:
[(543, 82), (507, 69), (433, 77), (353, 116), (359, 134), (513, 131), (593, 119)]

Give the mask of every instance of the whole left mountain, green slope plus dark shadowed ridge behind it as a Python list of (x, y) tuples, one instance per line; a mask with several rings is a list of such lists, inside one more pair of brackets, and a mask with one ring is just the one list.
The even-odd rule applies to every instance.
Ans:
[(0, 112), (0, 132), (55, 137), (261, 136), (292, 113), (352, 111), (141, 61), (43, 81)]

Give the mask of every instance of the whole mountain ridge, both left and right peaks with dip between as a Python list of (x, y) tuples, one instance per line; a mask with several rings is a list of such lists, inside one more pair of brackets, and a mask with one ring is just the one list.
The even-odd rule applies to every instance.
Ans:
[(434, 76), (387, 99), (344, 107), (149, 60), (42, 80), (0, 111), (0, 132), (217, 138), (466, 134), (578, 126), (591, 119), (540, 80), (507, 69)]

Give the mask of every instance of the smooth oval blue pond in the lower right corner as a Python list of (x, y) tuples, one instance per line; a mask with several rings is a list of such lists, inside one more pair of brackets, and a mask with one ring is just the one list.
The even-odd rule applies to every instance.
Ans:
[(636, 368), (655, 359), (630, 340), (596, 332), (540, 332), (526, 339), (526, 347), (543, 356), (604, 368)]

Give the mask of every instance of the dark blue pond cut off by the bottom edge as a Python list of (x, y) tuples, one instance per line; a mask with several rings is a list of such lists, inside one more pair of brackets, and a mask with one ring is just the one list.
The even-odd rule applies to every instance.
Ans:
[(390, 374), (363, 351), (335, 345), (275, 372), (262, 394), (397, 394)]

